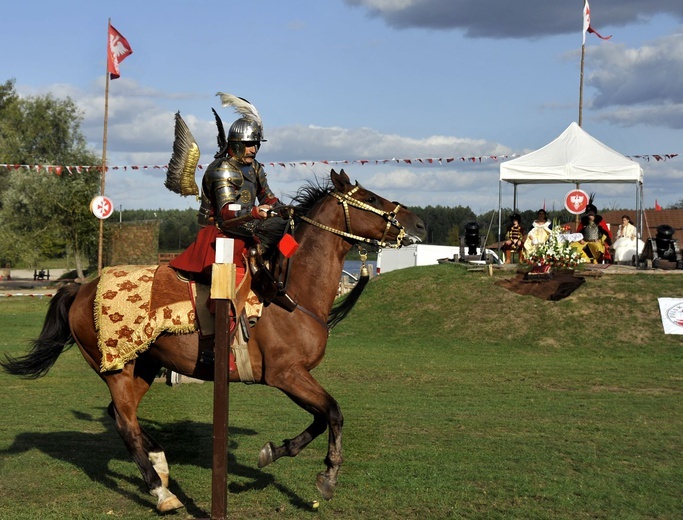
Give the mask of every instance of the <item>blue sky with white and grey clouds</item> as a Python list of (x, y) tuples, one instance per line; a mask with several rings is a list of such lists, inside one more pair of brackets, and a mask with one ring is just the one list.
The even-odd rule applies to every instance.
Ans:
[[(677, 203), (683, 2), (590, 8), (592, 27), (612, 38), (586, 37), (582, 127), (641, 164), (646, 208)], [(258, 159), (284, 202), (343, 168), (405, 205), (480, 214), (498, 207), (503, 160), (578, 121), (582, 15), (582, 0), (11, 2), (0, 82), (14, 79), (21, 96), (73, 99), (101, 155), (111, 19), (133, 49), (109, 91), (105, 195), (118, 209), (198, 208), (164, 187), (158, 166), (170, 160), (178, 111), (200, 164), (213, 160), (211, 109), (226, 128), (238, 117), (216, 97), (228, 92), (260, 112)], [(654, 158), (670, 154), (680, 155)], [(560, 209), (572, 188), (522, 186), (517, 209)], [(635, 208), (633, 185), (582, 188), (599, 209)], [(500, 190), (511, 208), (512, 186)]]

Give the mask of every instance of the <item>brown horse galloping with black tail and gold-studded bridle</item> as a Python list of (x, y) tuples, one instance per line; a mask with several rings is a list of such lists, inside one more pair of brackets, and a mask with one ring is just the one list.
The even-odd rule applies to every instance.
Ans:
[[(425, 234), (424, 224), (415, 214), (358, 183), (351, 184), (343, 170), (332, 170), (330, 178), (332, 185), (304, 187), (294, 199), (305, 211), (294, 231), (300, 245), (290, 259), (287, 281), (287, 293), (298, 306), (292, 312), (274, 304), (264, 307), (248, 342), (256, 381), (282, 390), (313, 415), (313, 422), (299, 435), (280, 446), (266, 443), (259, 453), (259, 467), (283, 456), (296, 456), (329, 428), (327, 469), (316, 480), (328, 500), (342, 464), (343, 417), (334, 398), (309, 372), (322, 361), (329, 328), (339, 319), (339, 309), (333, 309), (333, 304), (344, 257), (354, 245), (387, 247), (393, 242), (394, 247), (400, 247), (419, 241)], [(97, 284), (98, 280), (93, 280), (61, 288), (50, 302), (42, 332), (29, 353), (18, 359), (8, 357), (2, 366), (12, 374), (37, 378), (47, 373), (65, 347), (77, 344), (109, 387), (109, 414), (116, 420), (116, 429), (151, 494), (158, 498), (157, 509), (165, 512), (182, 507), (168, 490), (169, 469), (163, 448), (140, 427), (137, 408), (160, 367), (211, 381), (213, 365), (200, 362), (197, 333), (162, 334), (122, 370), (100, 372), (102, 354), (93, 316)], [(232, 372), (230, 381), (238, 380)]]

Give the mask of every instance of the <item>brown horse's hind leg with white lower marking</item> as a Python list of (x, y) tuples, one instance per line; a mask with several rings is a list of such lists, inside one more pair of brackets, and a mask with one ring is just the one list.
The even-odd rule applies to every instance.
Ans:
[(157, 497), (157, 510), (172, 511), (183, 507), (183, 504), (168, 490), (167, 483), (157, 472), (157, 468), (161, 473), (165, 469), (168, 478), (168, 465), (161, 446), (138, 423), (137, 407), (149, 384), (135, 378), (134, 368), (135, 364), (129, 363), (121, 372), (104, 376), (112, 397), (110, 413), (113, 411), (116, 430), (133, 456), (150, 493)]

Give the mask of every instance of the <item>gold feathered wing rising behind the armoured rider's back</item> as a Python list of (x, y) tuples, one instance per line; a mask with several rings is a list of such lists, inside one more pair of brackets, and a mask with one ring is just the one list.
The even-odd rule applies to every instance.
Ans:
[(199, 156), (197, 141), (183, 118), (180, 117), (180, 112), (177, 112), (175, 115), (173, 154), (168, 163), (164, 186), (183, 197), (194, 195), (199, 200), (199, 188), (194, 178)]

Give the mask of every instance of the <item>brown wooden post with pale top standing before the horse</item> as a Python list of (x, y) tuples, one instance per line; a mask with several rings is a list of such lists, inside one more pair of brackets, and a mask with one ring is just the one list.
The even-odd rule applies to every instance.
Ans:
[[(230, 240), (221, 239), (218, 240)], [(232, 242), (232, 240), (231, 240)], [(232, 245), (232, 244), (230, 244)], [(223, 249), (222, 247), (218, 249)], [(232, 247), (229, 248), (232, 250)], [(235, 296), (235, 264), (213, 264), (211, 298), (216, 302), (213, 382), (213, 462), (211, 465), (211, 518), (225, 520), (228, 510), (228, 411), (230, 404), (230, 307)], [(232, 261), (232, 258), (230, 258)]]

